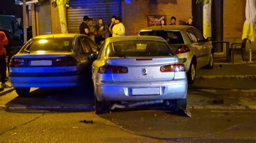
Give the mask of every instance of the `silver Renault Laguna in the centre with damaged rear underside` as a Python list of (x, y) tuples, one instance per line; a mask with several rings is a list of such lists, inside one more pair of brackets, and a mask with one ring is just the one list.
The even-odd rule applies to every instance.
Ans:
[(185, 67), (161, 37), (107, 38), (92, 64), (92, 78), (96, 113), (119, 101), (174, 99), (186, 108)]

